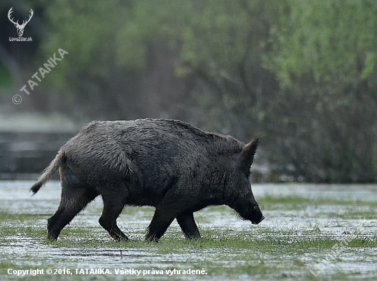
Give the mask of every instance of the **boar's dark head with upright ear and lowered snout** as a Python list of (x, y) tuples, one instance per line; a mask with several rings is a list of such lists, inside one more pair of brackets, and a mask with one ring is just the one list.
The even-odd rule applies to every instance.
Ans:
[(232, 184), (230, 184), (230, 190), (232, 191), (230, 208), (236, 210), (241, 219), (251, 221), (253, 224), (258, 224), (265, 219), (258, 203), (256, 203), (250, 184), (250, 167), (254, 160), (257, 146), (258, 138), (254, 138), (236, 156)]

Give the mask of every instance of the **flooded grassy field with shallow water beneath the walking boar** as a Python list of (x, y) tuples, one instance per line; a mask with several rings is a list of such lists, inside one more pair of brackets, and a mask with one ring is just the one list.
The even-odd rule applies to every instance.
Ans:
[(209, 207), (195, 214), (202, 239), (186, 241), (174, 222), (160, 243), (144, 241), (148, 207), (126, 207), (118, 224), (132, 241), (112, 241), (97, 198), (49, 243), (60, 183), (31, 197), (33, 183), (0, 181), (0, 280), (377, 278), (377, 185), (254, 184), (260, 225)]

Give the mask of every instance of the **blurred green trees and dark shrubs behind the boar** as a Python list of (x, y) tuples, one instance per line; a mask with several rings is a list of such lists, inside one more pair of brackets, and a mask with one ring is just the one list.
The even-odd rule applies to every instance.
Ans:
[[(10, 40), (11, 7), (34, 11), (31, 42)], [(2, 0), (0, 129), (181, 119), (259, 136), (262, 180), (376, 182), (376, 15), (375, 0)]]

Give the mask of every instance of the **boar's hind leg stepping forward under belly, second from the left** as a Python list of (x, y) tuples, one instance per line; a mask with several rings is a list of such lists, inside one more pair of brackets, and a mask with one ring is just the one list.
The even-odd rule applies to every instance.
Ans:
[(107, 230), (110, 236), (116, 241), (129, 240), (117, 225), (117, 219), (124, 207), (124, 200), (121, 197), (114, 197), (115, 196), (111, 195), (102, 195), (104, 211), (99, 218), (99, 224)]

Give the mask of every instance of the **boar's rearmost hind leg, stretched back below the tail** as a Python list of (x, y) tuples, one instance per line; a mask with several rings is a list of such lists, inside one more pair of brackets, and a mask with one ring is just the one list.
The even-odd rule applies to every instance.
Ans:
[(47, 239), (55, 241), (60, 231), (66, 226), (90, 201), (97, 197), (97, 193), (90, 188), (74, 188), (62, 184), (62, 199), (56, 213), (48, 219)]

